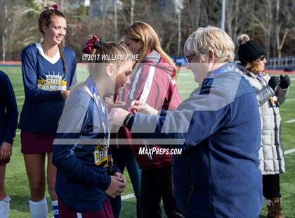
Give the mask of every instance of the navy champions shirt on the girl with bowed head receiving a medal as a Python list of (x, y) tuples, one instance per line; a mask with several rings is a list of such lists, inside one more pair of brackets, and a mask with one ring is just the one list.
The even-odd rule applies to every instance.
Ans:
[(108, 125), (101, 108), (96, 87), (81, 84), (67, 98), (58, 125), (52, 160), (58, 169), (55, 191), (76, 212), (101, 210), (111, 181), (108, 169), (119, 172), (115, 165), (110, 170), (110, 133), (103, 129)]

